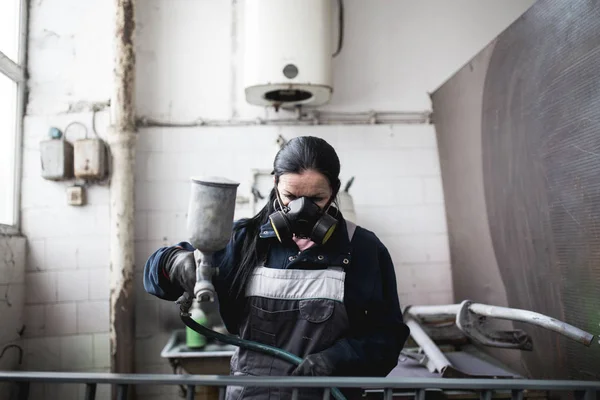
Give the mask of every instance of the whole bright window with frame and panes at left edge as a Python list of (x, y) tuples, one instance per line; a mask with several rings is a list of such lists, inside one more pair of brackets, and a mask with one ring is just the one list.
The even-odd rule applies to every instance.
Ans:
[(0, 232), (9, 233), (19, 219), (26, 11), (25, 0), (0, 1)]

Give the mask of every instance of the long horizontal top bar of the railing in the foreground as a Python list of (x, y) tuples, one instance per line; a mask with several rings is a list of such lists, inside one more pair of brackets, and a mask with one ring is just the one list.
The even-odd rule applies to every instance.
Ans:
[(231, 375), (111, 374), (93, 372), (0, 371), (0, 382), (97, 383), (117, 385), (196, 385), (314, 387), (365, 389), (469, 389), (469, 390), (600, 390), (600, 381), (534, 379), (273, 377)]

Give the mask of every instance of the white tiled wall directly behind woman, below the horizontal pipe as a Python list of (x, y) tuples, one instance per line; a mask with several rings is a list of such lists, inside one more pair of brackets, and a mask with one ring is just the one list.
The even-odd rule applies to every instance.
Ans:
[[(241, 183), (240, 196), (249, 197), (249, 169), (272, 167), (278, 135), (319, 136), (336, 148), (342, 182), (355, 177), (350, 193), (358, 223), (374, 231), (393, 256), (403, 304), (451, 301), (435, 134), (426, 125), (143, 129), (137, 265), (159, 246), (186, 240), (190, 176), (225, 175)], [(166, 146), (171, 141), (178, 145)], [(238, 217), (248, 215), (238, 208)]]

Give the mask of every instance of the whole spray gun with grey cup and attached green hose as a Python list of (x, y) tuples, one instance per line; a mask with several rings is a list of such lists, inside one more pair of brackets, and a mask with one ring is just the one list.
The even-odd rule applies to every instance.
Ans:
[[(225, 178), (192, 178), (192, 190), (187, 216), (187, 231), (190, 244), (196, 249), (196, 285), (194, 296), (185, 293), (178, 301), (183, 323), (199, 334), (216, 339), (221, 343), (231, 344), (244, 349), (257, 351), (277, 357), (293, 365), (299, 365), (302, 358), (285, 350), (262, 343), (240, 339), (236, 336), (224, 335), (203, 326), (191, 318), (189, 313), (194, 301), (205, 313), (207, 321), (215, 321), (218, 314), (217, 295), (212, 283), (216, 267), (213, 265), (213, 254), (227, 246), (233, 231), (235, 199), (238, 183)], [(211, 315), (213, 314), (213, 315)], [(344, 395), (336, 388), (331, 394), (337, 400), (345, 400)]]

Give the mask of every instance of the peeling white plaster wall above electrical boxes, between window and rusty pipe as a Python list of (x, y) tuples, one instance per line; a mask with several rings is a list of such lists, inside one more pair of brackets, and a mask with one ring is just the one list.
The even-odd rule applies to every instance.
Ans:
[(108, 100), (112, 15), (112, 4), (103, 0), (32, 3), (28, 114), (54, 115), (80, 101)]

